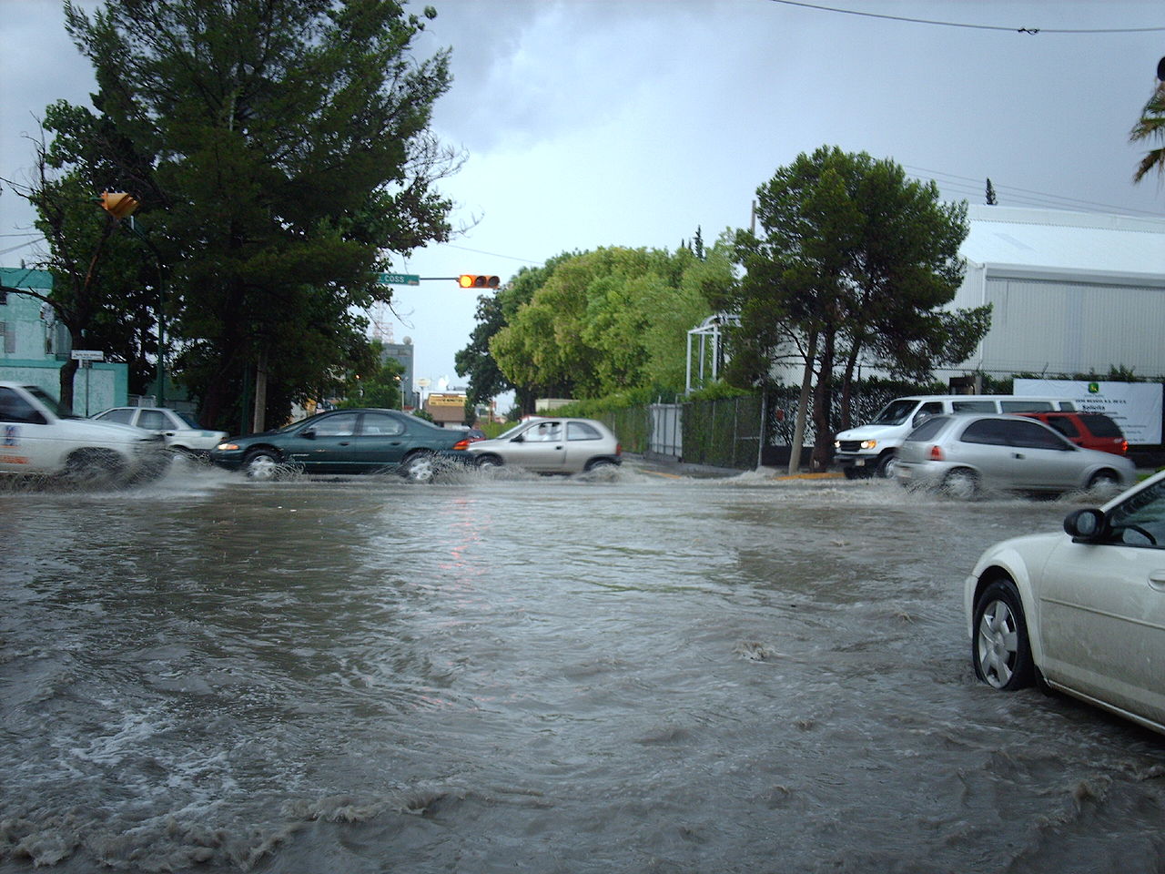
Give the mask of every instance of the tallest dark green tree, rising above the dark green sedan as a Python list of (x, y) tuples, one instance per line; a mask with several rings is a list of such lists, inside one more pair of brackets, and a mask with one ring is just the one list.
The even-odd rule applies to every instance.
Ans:
[(391, 0), (106, 0), (92, 16), (66, 1), (65, 14), (99, 90), (96, 112), (58, 114), (83, 175), (96, 145), (110, 182), (142, 200), (174, 367), (203, 421), (233, 427), (248, 386), (266, 396), (256, 425), (334, 387), (367, 346), (353, 313), (390, 295), (374, 273), (449, 238), (435, 183), (460, 156), (429, 132), (447, 52), (415, 59), (424, 22)]

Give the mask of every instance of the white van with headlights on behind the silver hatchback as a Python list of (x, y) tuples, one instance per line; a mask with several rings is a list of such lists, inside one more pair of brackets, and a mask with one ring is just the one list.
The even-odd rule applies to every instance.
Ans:
[(869, 424), (838, 434), (833, 460), (846, 477), (894, 475), (898, 446), (925, 420), (940, 413), (1038, 413), (1075, 410), (1062, 397), (1019, 397), (1017, 395), (913, 395), (896, 397), (883, 407)]

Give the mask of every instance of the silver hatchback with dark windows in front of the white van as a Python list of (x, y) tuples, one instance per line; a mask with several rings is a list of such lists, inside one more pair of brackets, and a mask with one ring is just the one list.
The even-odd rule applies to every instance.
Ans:
[(1072, 492), (1132, 485), (1128, 458), (1081, 449), (1023, 416), (942, 415), (923, 422), (898, 450), (895, 478), (956, 496), (980, 489)]

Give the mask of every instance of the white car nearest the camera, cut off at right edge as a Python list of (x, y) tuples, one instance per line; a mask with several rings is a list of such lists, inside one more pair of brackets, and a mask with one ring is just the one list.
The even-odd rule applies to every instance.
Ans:
[(1165, 471), (988, 549), (963, 606), (983, 682), (1043, 681), (1165, 733)]

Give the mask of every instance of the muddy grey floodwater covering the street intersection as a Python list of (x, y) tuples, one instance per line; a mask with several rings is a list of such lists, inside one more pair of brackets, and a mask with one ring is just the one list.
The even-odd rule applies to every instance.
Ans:
[(975, 682), (1083, 499), (176, 468), (0, 493), (0, 872), (1131, 872), (1165, 739)]

